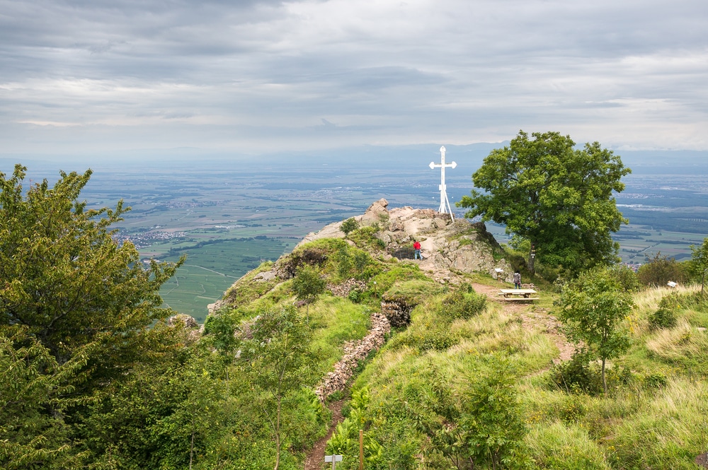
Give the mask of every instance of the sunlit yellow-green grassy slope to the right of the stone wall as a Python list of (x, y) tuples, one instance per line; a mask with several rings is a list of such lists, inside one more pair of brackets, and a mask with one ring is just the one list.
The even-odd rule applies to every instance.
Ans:
[[(708, 314), (684, 305), (676, 327), (651, 331), (648, 317), (668, 293), (651, 289), (636, 295), (637, 307), (625, 324), (633, 346), (614, 361), (617, 378), (607, 398), (550, 386), (557, 349), (544, 331), (522, 329), (518, 318), (496, 305), (453, 322), (447, 334), (457, 340), (454, 345), (422, 347), (440, 335), (430, 313), (440, 299), (431, 298), (358, 377), (354, 389), (370, 395), (362, 420), (374, 424), (369, 433), (384, 448), (396, 439), (423, 448), (425, 439), (405, 409), (429, 392), (431, 374), (445, 377), (453, 391), (461, 389), (460, 382), (474, 380), (476, 357), (503, 351), (515, 365), (525, 444), (535, 468), (695, 469), (697, 454), (708, 450), (708, 335), (697, 329), (708, 326)], [(406, 336), (415, 341), (401, 341)], [(620, 377), (624, 368), (631, 372)]]

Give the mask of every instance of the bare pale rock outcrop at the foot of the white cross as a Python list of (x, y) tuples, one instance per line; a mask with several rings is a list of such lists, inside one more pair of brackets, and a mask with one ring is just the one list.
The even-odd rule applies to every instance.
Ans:
[[(493, 248), (499, 245), (486, 231), (484, 223), (470, 223), (464, 219), (452, 222), (450, 214), (432, 209), (406, 206), (389, 210), (388, 205), (386, 199), (379, 199), (355, 219), (362, 226), (379, 225), (376, 236), (386, 244), (389, 254), (412, 257), (413, 241), (418, 240), (423, 255), (420, 267), (432, 271), (438, 281), (449, 282), (450, 271), (459, 271), (468, 274), (484, 272), (511, 282), (511, 266), (505, 259), (494, 259)], [(326, 225), (319, 232), (304, 237), (297, 246), (324, 237), (343, 238), (341, 224)]]

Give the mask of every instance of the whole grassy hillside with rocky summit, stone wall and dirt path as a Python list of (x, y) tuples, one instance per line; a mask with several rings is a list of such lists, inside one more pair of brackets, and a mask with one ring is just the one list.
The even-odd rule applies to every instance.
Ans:
[[(610, 361), (604, 396), (598, 363), (573, 356), (554, 316), (556, 293), (544, 289), (535, 303), (499, 300), (512, 267), (484, 224), (389, 209), (385, 200), (355, 220), (348, 236), (343, 221), (327, 225), (251, 271), (207, 319), (209, 332), (210, 323), (231, 318), (240, 325), (236, 339), (249, 341), (262, 312), (295, 301), (304, 315), (312, 362), (298, 387), (329, 411), (290, 399), (283, 425), (309, 437), (282, 433), (280, 468), (321, 469), (325, 452), (343, 454), (338, 469), (358, 468), (360, 429), (366, 469), (705, 462), (708, 310), (692, 288), (634, 294), (622, 323), (631, 346)], [(413, 240), (422, 261), (411, 259)], [(308, 272), (324, 281), (312, 295), (298, 292)], [(673, 327), (652, 323), (663, 298), (678, 299)], [(228, 468), (267, 468), (273, 433), (264, 429), (253, 441), (265, 452), (261, 467)]]

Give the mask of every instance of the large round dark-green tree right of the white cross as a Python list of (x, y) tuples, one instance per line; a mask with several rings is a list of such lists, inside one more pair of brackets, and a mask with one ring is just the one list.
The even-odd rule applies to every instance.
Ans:
[(528, 240), (532, 274), (535, 259), (574, 273), (616, 259), (619, 244), (610, 232), (627, 219), (612, 192), (624, 189), (620, 179), (631, 170), (598, 142), (574, 146), (558, 132), (535, 132), (530, 139), (520, 131), (472, 175), (484, 192), (472, 190), (457, 203), (470, 209), (465, 217), (482, 216)]

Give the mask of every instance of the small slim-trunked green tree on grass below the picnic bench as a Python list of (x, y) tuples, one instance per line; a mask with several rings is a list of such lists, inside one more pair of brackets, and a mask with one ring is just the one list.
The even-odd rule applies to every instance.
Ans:
[(605, 363), (629, 348), (629, 336), (621, 322), (632, 312), (632, 295), (624, 290), (616, 273), (595, 268), (566, 284), (559, 300), (559, 319), (576, 343), (585, 343), (590, 357), (602, 360), (603, 390), (607, 394)]

